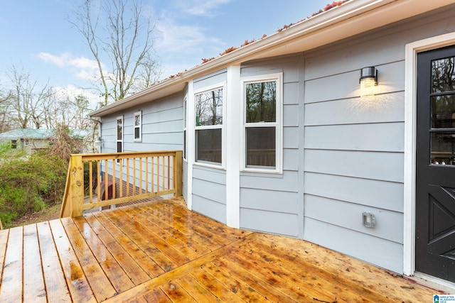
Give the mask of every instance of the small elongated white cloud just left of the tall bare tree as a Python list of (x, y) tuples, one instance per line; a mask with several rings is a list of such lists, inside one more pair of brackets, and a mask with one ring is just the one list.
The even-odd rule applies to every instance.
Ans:
[(58, 67), (70, 67), (75, 77), (94, 80), (98, 78), (98, 64), (95, 60), (86, 57), (74, 57), (70, 53), (52, 55), (50, 53), (39, 53), (38, 58), (44, 62), (52, 63)]

